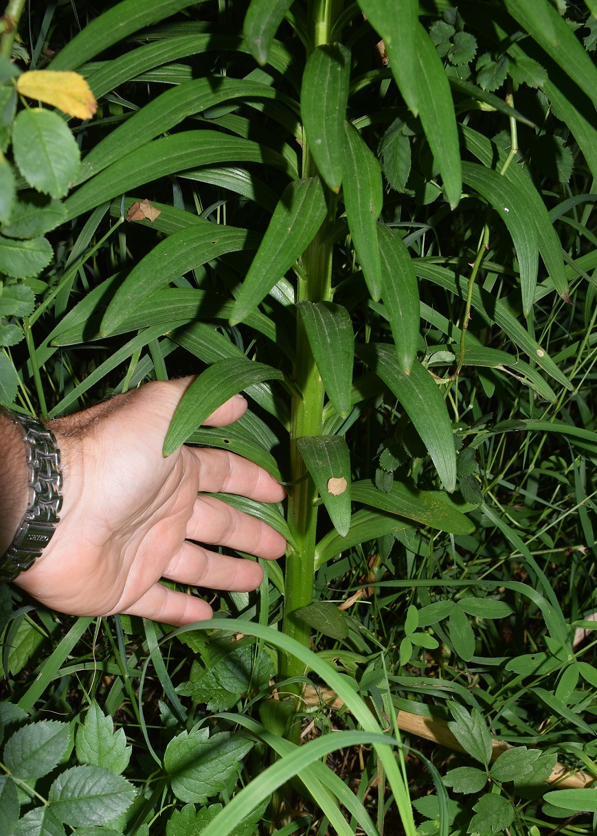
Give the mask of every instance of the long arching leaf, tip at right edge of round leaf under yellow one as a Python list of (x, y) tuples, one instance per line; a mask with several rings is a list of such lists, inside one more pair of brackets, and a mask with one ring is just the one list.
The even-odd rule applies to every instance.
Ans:
[[(278, 92), (267, 84), (227, 77), (215, 79), (213, 76), (187, 81), (186, 84), (166, 90), (137, 110), (124, 125), (110, 131), (105, 140), (89, 151), (81, 163), (74, 185), (84, 183), (89, 177), (120, 160), (120, 157), (166, 133), (166, 130), (178, 125), (187, 116), (201, 113), (228, 99), (273, 99), (276, 95)], [(202, 158), (199, 159), (202, 161)]]

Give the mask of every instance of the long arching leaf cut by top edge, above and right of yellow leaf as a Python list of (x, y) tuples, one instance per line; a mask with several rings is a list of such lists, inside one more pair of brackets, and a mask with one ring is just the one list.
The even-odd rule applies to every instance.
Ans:
[(69, 41), (52, 62), (52, 69), (77, 69), (127, 35), (196, 3), (197, 0), (124, 0), (92, 20)]

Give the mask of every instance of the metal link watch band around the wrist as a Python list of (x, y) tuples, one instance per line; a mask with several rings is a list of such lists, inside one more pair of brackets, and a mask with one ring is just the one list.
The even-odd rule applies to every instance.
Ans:
[(0, 582), (6, 582), (31, 568), (51, 540), (62, 507), (62, 472), (54, 433), (29, 415), (0, 410), (23, 429), (29, 488), (27, 511), (13, 543), (0, 558)]

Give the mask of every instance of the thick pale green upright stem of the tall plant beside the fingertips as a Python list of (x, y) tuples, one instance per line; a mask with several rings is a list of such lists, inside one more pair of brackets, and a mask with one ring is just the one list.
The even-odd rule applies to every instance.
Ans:
[[(338, 0), (311, 0), (309, 20), (312, 26), (314, 47), (329, 43), (334, 19), (341, 10)], [(304, 137), (303, 176), (317, 176), (317, 167), (309, 155)], [(334, 220), (336, 199), (328, 191), (328, 214), (319, 232), (303, 253), (301, 275), (298, 278), (297, 301), (326, 302), (331, 298), (332, 244), (326, 240), (329, 223)], [(293, 396), (291, 414), (291, 466), (293, 487), (288, 494), (288, 523), (297, 543), (286, 560), (285, 608), (283, 631), (305, 647), (309, 647), (311, 630), (308, 624), (298, 621), (293, 613), (311, 604), (314, 583), (314, 553), (317, 528), (317, 489), (308, 476), (304, 461), (298, 452), (297, 439), (320, 436), (323, 426), (324, 385), (314, 361), (309, 339), (300, 317), (297, 318), (296, 365), (294, 375), (298, 393)], [(284, 655), (280, 673), (283, 679), (304, 675), (304, 665), (293, 656)], [(298, 694), (301, 687), (291, 686)], [(299, 727), (290, 732), (298, 740)]]

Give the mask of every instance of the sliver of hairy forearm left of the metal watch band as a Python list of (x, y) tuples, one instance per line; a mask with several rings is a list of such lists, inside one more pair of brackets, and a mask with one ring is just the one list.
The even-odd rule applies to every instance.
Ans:
[(0, 410), (0, 557), (27, 511), (28, 473), (23, 430)]

